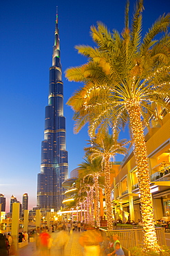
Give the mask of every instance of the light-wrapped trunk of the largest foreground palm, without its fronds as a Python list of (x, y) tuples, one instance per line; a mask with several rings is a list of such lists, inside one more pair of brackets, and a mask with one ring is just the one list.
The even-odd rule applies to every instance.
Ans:
[(147, 163), (147, 147), (143, 133), (140, 107), (138, 102), (129, 101), (127, 105), (130, 125), (134, 140), (134, 156), (138, 169), (138, 182), (140, 191), (140, 210), (144, 230), (144, 250), (159, 251), (156, 230), (153, 220), (151, 202), (149, 166)]

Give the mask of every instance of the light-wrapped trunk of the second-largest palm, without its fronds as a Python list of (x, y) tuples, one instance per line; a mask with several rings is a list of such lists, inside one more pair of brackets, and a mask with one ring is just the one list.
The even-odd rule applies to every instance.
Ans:
[(107, 229), (113, 229), (112, 222), (112, 208), (111, 208), (111, 190), (110, 190), (110, 163), (109, 156), (105, 155), (105, 202), (106, 202), (106, 216), (107, 216)]

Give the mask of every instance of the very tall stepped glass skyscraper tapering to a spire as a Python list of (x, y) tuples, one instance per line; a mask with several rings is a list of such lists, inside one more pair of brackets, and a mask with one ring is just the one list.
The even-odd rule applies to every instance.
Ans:
[(45, 107), (44, 140), (41, 144), (41, 173), (38, 174), (37, 206), (44, 211), (59, 210), (64, 199), (62, 183), (68, 177), (63, 116), (63, 82), (61, 78), (58, 14), (54, 33), (48, 105)]

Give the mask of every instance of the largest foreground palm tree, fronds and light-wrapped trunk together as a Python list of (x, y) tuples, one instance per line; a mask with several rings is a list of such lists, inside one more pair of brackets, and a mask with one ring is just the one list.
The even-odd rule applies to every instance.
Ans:
[(153, 221), (149, 186), (147, 147), (143, 123), (149, 117), (159, 120), (157, 105), (170, 111), (170, 15), (162, 15), (142, 39), (143, 0), (136, 1), (129, 28), (129, 1), (125, 8), (123, 33), (98, 23), (91, 27), (97, 47), (76, 46), (88, 58), (87, 64), (70, 68), (70, 81), (84, 82), (68, 100), (74, 109), (75, 131), (89, 122), (89, 136), (108, 127), (122, 128), (128, 122), (133, 136), (134, 156), (138, 168), (140, 205), (144, 230), (144, 250), (159, 251)]

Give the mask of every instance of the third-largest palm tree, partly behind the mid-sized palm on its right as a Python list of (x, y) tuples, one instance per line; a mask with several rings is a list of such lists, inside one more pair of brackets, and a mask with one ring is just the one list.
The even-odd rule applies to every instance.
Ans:
[[(98, 183), (98, 177), (101, 173), (101, 158), (96, 158), (93, 161), (90, 159), (89, 156), (87, 156), (84, 159), (84, 162), (78, 165), (78, 176), (79, 178), (85, 178), (87, 176), (92, 176), (94, 179), (94, 188), (95, 188), (95, 203), (96, 203), (96, 226), (100, 226), (100, 211), (98, 207), (98, 201), (99, 201), (99, 183)], [(91, 191), (92, 195), (92, 191)], [(91, 200), (92, 201), (92, 200)], [(92, 211), (93, 214), (93, 211)]]

